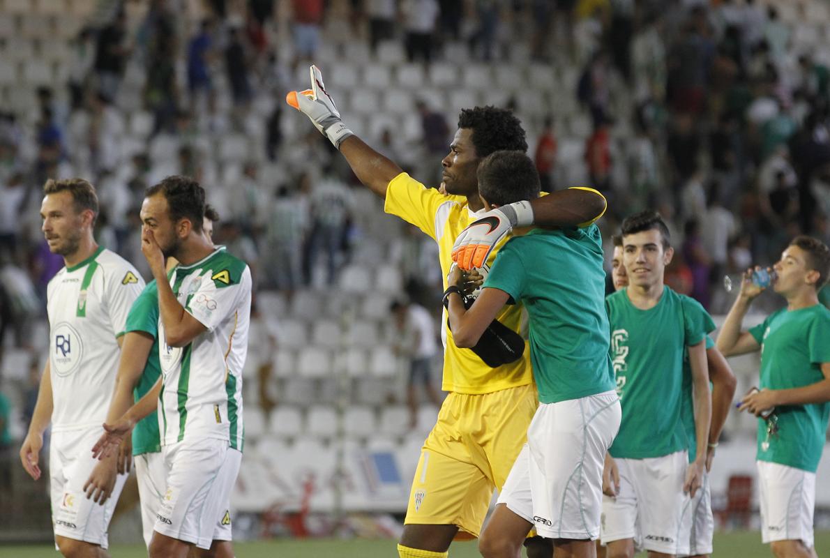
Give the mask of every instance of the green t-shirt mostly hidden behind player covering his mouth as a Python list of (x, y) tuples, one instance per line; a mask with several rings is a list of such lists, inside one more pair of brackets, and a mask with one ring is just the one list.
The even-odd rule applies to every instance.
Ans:
[[(161, 375), (159, 366), (159, 289), (155, 280), (147, 283), (144, 291), (133, 302), (127, 316), (125, 331), (143, 331), (153, 335), (153, 348), (147, 357), (147, 364), (144, 365), (144, 374), (141, 374), (139, 384), (133, 389), (133, 397), (136, 402), (144, 397), (150, 389), (153, 389), (156, 381)], [(133, 455), (142, 453), (155, 453), (161, 451), (159, 438), (159, 417), (150, 414), (139, 420), (133, 429)]]

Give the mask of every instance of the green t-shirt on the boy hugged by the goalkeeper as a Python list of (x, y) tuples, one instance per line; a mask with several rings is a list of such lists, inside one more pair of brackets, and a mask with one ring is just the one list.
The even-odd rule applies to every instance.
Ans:
[(496, 256), (485, 287), (521, 301), (530, 316), (530, 361), (542, 403), (614, 389), (608, 358), (605, 271), (599, 228), (513, 237)]

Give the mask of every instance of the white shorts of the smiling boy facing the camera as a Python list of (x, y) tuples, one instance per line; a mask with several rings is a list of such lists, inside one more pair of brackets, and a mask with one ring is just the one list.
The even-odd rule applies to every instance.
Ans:
[(617, 497), (603, 496), (602, 542), (633, 539), (639, 550), (687, 555), (683, 516), (691, 501), (683, 492), (689, 454), (615, 459), (620, 474)]

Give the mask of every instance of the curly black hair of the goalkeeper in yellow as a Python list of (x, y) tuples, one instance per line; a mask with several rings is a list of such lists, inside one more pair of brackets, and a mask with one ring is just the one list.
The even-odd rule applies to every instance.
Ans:
[(476, 106), (461, 109), (458, 127), (472, 130), (472, 144), (479, 157), (494, 151), (527, 151), (525, 130), (512, 111), (495, 106)]

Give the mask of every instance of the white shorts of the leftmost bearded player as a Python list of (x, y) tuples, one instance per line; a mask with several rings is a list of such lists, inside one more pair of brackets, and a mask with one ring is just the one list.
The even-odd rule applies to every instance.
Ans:
[(103, 506), (87, 499), (86, 480), (99, 463), (92, 446), (104, 429), (79, 428), (53, 432), (49, 448), (49, 483), (52, 524), (56, 536), (90, 542), (106, 549), (107, 528), (127, 475), (115, 478), (115, 487)]

